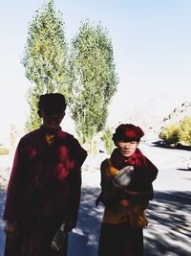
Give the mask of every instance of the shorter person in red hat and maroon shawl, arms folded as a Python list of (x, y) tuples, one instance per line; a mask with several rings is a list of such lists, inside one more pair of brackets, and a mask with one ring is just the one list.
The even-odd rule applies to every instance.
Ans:
[[(143, 256), (145, 209), (153, 198), (157, 167), (138, 150), (141, 128), (120, 125), (113, 135), (117, 148), (101, 163), (101, 194), (105, 211), (98, 256)], [(131, 171), (131, 172), (130, 172)]]

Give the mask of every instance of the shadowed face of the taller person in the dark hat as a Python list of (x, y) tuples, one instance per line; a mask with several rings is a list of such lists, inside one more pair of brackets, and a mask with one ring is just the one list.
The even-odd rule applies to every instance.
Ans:
[(56, 130), (59, 128), (59, 125), (64, 118), (65, 111), (63, 110), (60, 113), (49, 113), (44, 109), (40, 109), (40, 114), (43, 120), (43, 125), (50, 130)]

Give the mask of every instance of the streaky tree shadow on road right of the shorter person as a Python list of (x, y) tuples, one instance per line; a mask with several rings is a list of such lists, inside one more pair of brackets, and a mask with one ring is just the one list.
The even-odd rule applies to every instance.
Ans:
[(191, 238), (191, 192), (156, 192), (144, 230), (145, 256), (188, 256)]

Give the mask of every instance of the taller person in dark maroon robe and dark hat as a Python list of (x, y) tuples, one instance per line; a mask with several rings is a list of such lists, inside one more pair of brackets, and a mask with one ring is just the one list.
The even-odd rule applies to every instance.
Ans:
[(81, 172), (87, 152), (73, 135), (59, 127), (65, 98), (40, 96), (43, 125), (21, 138), (14, 156), (3, 219), (5, 256), (67, 255), (51, 247), (56, 230), (67, 218), (71, 231), (77, 221)]

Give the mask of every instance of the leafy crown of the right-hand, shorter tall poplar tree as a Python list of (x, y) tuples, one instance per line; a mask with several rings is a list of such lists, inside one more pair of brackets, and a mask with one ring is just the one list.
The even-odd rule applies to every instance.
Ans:
[(91, 143), (96, 132), (105, 127), (118, 82), (112, 41), (100, 24), (86, 21), (74, 36), (70, 77), (69, 105), (76, 132), (84, 143)]

